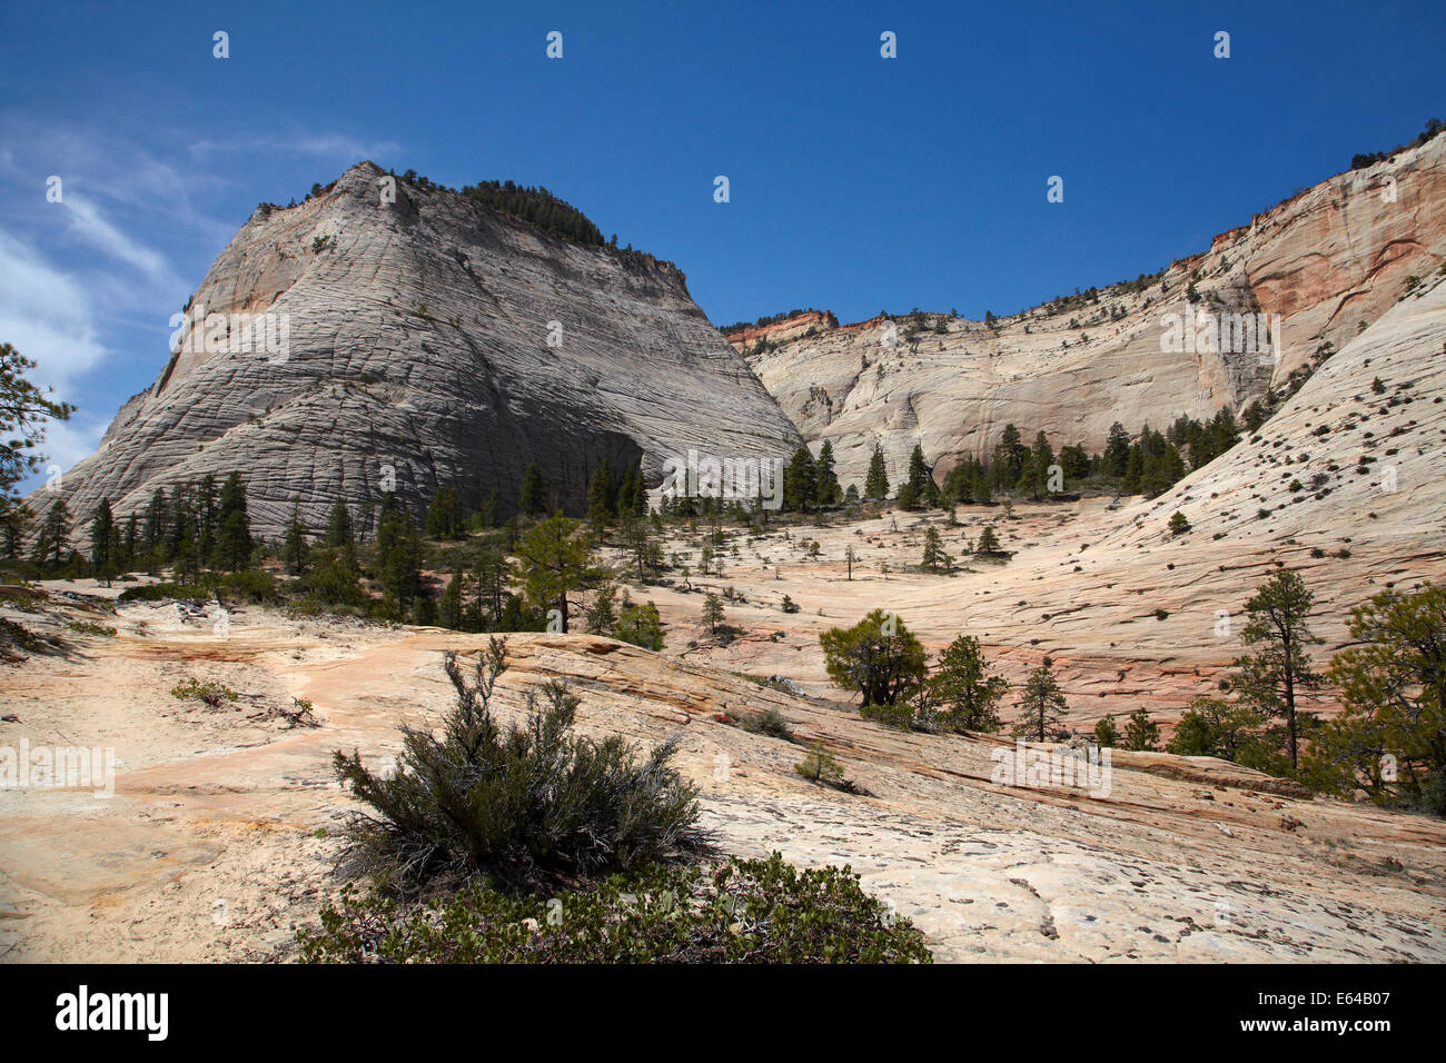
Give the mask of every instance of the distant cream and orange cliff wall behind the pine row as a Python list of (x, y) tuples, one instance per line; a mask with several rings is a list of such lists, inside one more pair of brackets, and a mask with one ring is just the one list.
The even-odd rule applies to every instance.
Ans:
[[(1098, 304), (1053, 317), (1037, 307), (999, 318), (998, 328), (947, 318), (938, 334), (927, 315), (914, 343), (898, 321), (892, 347), (884, 320), (829, 327), (810, 317), (729, 340), (749, 353), (816, 453), (833, 441), (844, 486), (863, 486), (875, 441), (891, 482), (915, 444), (941, 477), (966, 454), (992, 453), (1011, 421), (1027, 441), (1043, 428), (1056, 448), (1100, 450), (1115, 421), (1134, 432), (1145, 422), (1163, 430), (1181, 414), (1239, 411), (1322, 344), (1343, 347), (1395, 302), (1410, 275), (1434, 273), (1446, 260), (1443, 155), (1446, 137), (1437, 137), (1340, 174), (1222, 233), (1142, 292), (1102, 288)], [(1196, 270), (1200, 301), (1192, 304)], [(1280, 357), (1163, 351), (1164, 317), (1192, 309), (1278, 314)]]

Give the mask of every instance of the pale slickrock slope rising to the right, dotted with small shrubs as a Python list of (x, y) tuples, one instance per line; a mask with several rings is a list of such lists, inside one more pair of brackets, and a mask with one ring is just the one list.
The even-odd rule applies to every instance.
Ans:
[[(957, 525), (907, 512), (803, 525), (740, 538), (736, 555), (732, 547), (720, 555), (723, 576), (707, 577), (697, 574), (701, 537), (680, 535), (664, 552), (693, 565), (693, 587), (733, 587), (746, 599), (727, 605), (729, 623), (746, 632), (727, 646), (700, 623), (701, 593), (678, 586), (633, 596), (656, 602), (669, 652), (782, 675), (813, 694), (830, 691), (818, 632), (889, 609), (936, 654), (959, 633), (975, 635), (1017, 688), (1053, 658), (1066, 720), (1080, 730), (1139, 707), (1170, 723), (1192, 697), (1218, 693), (1245, 652), (1245, 602), (1278, 565), (1300, 571), (1316, 596), (1322, 662), (1346, 645), (1353, 606), (1388, 587), (1446, 581), (1443, 344), (1446, 278), (1437, 275), (1348, 341), (1258, 437), (1154, 500), (1030, 503), (1014, 516), (959, 506)], [(1168, 529), (1176, 511), (1192, 524), (1183, 535)], [(1017, 551), (1008, 563), (966, 552), (988, 524)], [(928, 525), (963, 571), (918, 570)], [(801, 612), (782, 613), (785, 594)], [(1313, 707), (1333, 712), (1329, 697)]]

